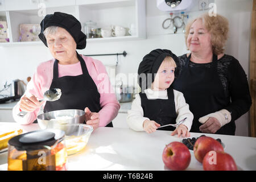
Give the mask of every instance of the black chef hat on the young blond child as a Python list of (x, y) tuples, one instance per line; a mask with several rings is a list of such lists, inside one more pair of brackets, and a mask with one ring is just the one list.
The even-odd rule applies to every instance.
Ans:
[(143, 57), (138, 68), (138, 84), (141, 86), (142, 92), (144, 89), (150, 88), (155, 74), (166, 56), (171, 56), (175, 63), (179, 61), (177, 56), (168, 49), (154, 49)]

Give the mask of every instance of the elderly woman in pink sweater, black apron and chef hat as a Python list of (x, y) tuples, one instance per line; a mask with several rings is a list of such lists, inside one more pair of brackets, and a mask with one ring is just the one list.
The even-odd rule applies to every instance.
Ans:
[[(49, 48), (52, 60), (41, 63), (27, 85), (27, 90), (13, 109), (16, 122), (28, 125), (36, 120), (43, 105), (44, 113), (62, 109), (81, 109), (86, 124), (97, 129), (112, 125), (120, 108), (104, 65), (79, 55), (84, 49), (86, 35), (81, 23), (72, 15), (55, 12), (40, 23), (39, 38)], [(48, 89), (61, 89), (61, 97), (53, 102), (39, 102)], [(28, 112), (19, 117), (20, 111)]]

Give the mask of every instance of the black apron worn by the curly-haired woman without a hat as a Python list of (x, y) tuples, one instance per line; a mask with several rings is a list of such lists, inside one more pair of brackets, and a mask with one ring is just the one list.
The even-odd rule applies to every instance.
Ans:
[[(172, 87), (184, 94), (189, 110), (194, 115), (191, 132), (201, 133), (202, 125), (199, 118), (214, 113), (230, 104), (230, 98), (224, 93), (217, 72), (217, 55), (208, 67), (189, 67), (191, 55), (187, 58), (180, 75), (175, 78)], [(234, 135), (236, 125), (234, 121), (222, 126), (216, 134)]]

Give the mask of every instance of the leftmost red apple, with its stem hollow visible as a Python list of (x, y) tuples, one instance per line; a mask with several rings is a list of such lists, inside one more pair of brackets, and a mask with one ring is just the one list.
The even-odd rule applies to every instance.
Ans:
[(184, 170), (190, 163), (191, 154), (183, 143), (171, 142), (164, 148), (162, 158), (169, 169)]

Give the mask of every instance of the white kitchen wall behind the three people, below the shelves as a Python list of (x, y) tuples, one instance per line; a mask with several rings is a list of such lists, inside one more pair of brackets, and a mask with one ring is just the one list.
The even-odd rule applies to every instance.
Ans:
[[(195, 3), (197, 1), (195, 0)], [(215, 0), (217, 13), (220, 13), (230, 22), (230, 35), (226, 44), (226, 54), (236, 57), (246, 74), (249, 76), (249, 46), (250, 46), (250, 23), (252, 0)], [(137, 73), (137, 68), (143, 56), (155, 48), (170, 49), (176, 55), (187, 53), (185, 47), (184, 34), (179, 30), (173, 34), (172, 30), (163, 30), (162, 22), (168, 18), (168, 13), (157, 9), (156, 1), (146, 1), (146, 27), (147, 39), (129, 40), (117, 42), (88, 42), (84, 50), (78, 50), (79, 53), (89, 55), (98, 53), (121, 53), (127, 52), (127, 56), (118, 56), (117, 74), (123, 78), (125, 84), (134, 85), (136, 78), (133, 76)], [(197, 10), (196, 3), (189, 18), (196, 17), (203, 13)], [(205, 12), (208, 12), (206, 10)], [(117, 60), (116, 56), (94, 57), (101, 60), (106, 65), (114, 65)], [(0, 89), (5, 82), (11, 82), (16, 78), (26, 80), (32, 76), (37, 65), (51, 59), (47, 47), (43, 46), (11, 46), (0, 47)], [(130, 79), (125, 77), (131, 76)], [(248, 135), (249, 114), (246, 113), (237, 123), (237, 135)]]

